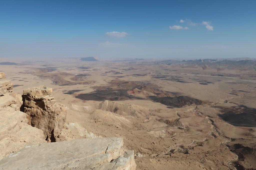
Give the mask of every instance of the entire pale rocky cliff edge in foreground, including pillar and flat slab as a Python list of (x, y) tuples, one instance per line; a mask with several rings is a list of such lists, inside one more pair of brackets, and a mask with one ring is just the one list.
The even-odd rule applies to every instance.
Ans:
[(0, 73), (1, 169), (136, 169), (123, 138), (100, 138), (78, 126), (70, 130), (68, 108), (56, 103), (51, 88), (26, 89), (21, 96), (4, 78)]

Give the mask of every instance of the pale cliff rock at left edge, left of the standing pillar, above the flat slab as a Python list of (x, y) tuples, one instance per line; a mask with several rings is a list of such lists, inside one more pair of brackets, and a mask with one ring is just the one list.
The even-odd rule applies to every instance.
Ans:
[[(0, 73), (0, 78), (5, 78)], [(7, 83), (6, 83), (7, 82)], [(13, 84), (0, 79), (0, 160), (32, 143), (46, 142), (42, 130), (27, 124), (26, 113), (19, 111), (18, 94), (10, 93)], [(21, 96), (20, 96), (21, 97)], [(1, 167), (1, 164), (0, 164)]]

